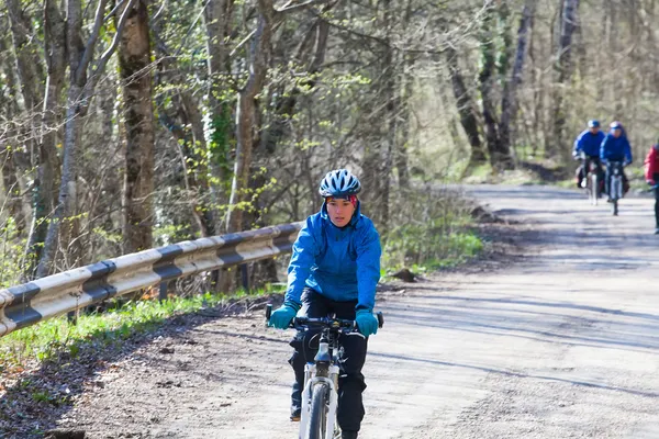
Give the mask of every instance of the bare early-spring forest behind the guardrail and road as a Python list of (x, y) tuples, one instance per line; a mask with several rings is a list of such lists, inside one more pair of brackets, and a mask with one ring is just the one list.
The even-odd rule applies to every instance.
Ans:
[(4, 0), (0, 282), (303, 219), (342, 167), (391, 259), (436, 257), (461, 215), (443, 183), (573, 169), (589, 119), (622, 121), (643, 161), (658, 14), (655, 0)]

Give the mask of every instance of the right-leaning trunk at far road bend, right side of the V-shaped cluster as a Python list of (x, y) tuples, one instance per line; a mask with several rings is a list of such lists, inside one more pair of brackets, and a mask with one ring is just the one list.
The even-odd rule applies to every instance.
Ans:
[(522, 10), (520, 20), (520, 30), (517, 31), (517, 52), (513, 66), (513, 75), (510, 81), (505, 82), (503, 88), (503, 98), (501, 100), (501, 121), (499, 122), (500, 142), (504, 148), (512, 149), (511, 145), (511, 125), (515, 123), (517, 113), (517, 90), (522, 83), (524, 72), (524, 61), (526, 58), (526, 46), (528, 45), (529, 26), (535, 12), (537, 0), (526, 0)]

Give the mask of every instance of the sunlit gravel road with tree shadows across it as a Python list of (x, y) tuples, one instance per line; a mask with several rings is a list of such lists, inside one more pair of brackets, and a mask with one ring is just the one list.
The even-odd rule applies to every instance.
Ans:
[[(360, 438), (659, 438), (659, 236), (577, 192), (473, 187), (524, 258), (379, 302)], [(532, 229), (533, 228), (533, 229)], [(63, 426), (91, 438), (292, 439), (290, 334), (257, 314), (157, 338), (98, 373)]]

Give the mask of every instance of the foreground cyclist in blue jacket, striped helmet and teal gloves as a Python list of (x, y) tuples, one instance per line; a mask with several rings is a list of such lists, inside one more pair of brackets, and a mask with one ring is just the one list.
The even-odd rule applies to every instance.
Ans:
[[(321, 212), (306, 218), (293, 245), (288, 269), (288, 289), (283, 305), (270, 317), (270, 325), (284, 329), (295, 315), (355, 319), (361, 334), (343, 335), (344, 361), (338, 382), (337, 420), (343, 439), (356, 439), (366, 389), (361, 368), (366, 360), (368, 337), (378, 330), (372, 314), (376, 285), (380, 280), (380, 236), (373, 223), (360, 213), (357, 193), (361, 184), (346, 169), (328, 172), (321, 181), (325, 199)], [(317, 337), (300, 333), (291, 341), (290, 363), (295, 372), (291, 420), (300, 420), (304, 364), (317, 350)], [(312, 346), (315, 341), (315, 349)]]

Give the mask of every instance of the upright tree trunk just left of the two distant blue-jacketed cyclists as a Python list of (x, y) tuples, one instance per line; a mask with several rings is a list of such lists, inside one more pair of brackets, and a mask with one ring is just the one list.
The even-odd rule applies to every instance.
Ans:
[(566, 103), (565, 92), (569, 86), (569, 81), (572, 75), (572, 34), (577, 29), (577, 15), (579, 10), (579, 0), (563, 0), (562, 7), (562, 20), (560, 27), (560, 41), (558, 47), (558, 56), (555, 64), (555, 69), (558, 74), (556, 82), (556, 91), (554, 94), (554, 138), (549, 143), (550, 147), (547, 150), (548, 156), (558, 156), (561, 150), (566, 149), (568, 145), (566, 140)]

